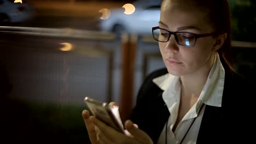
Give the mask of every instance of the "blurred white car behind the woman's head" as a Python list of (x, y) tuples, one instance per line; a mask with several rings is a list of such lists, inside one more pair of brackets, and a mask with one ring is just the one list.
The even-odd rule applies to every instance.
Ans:
[(118, 36), (123, 33), (152, 34), (152, 27), (158, 26), (160, 20), (160, 1), (136, 1), (132, 3), (134, 13), (124, 14), (124, 8), (110, 9), (110, 16), (100, 21), (100, 30), (114, 32)]

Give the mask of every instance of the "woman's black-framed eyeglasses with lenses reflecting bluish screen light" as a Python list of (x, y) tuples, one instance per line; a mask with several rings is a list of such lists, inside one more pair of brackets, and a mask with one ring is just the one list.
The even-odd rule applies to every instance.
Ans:
[(160, 27), (153, 27), (152, 33), (155, 40), (164, 42), (164, 43), (167, 42), (170, 39), (171, 35), (173, 34), (176, 42), (179, 45), (186, 46), (186, 47), (194, 46), (196, 44), (197, 38), (216, 35), (216, 33), (194, 34), (194, 33), (188, 33), (188, 32), (170, 32)]

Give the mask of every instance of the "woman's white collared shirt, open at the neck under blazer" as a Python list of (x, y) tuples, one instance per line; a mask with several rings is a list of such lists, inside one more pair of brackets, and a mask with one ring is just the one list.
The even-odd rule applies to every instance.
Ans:
[[(205, 105), (222, 106), (222, 95), (224, 88), (225, 70), (220, 62), (218, 53), (216, 54), (215, 61), (208, 75), (205, 86), (197, 99), (196, 103), (185, 114), (181, 122), (178, 123), (175, 131), (172, 131), (176, 119), (178, 117), (179, 101), (181, 98), (181, 81), (179, 76), (173, 76), (171, 74), (165, 74), (153, 79), (153, 82), (161, 88), (164, 92), (162, 98), (171, 113), (167, 122), (167, 143), (180, 143), (187, 133), (190, 125), (195, 119), (193, 125), (188, 131), (188, 134), (184, 137), (182, 144), (196, 143), (197, 135), (199, 133), (200, 124), (202, 121), (203, 112), (205, 106), (202, 107), (199, 113), (200, 107)], [(158, 140), (158, 144), (164, 144), (166, 138), (166, 127), (162, 129), (161, 135)]]

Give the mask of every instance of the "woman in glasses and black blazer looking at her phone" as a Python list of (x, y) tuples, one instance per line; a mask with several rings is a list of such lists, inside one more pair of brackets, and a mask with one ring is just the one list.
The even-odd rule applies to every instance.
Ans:
[(231, 66), (230, 29), (226, 0), (164, 0), (159, 26), (152, 30), (166, 69), (155, 71), (144, 81), (131, 121), (125, 122), (130, 136), (83, 111), (91, 142), (249, 140), (243, 137), (248, 136), (249, 120), (241, 114), (252, 109), (246, 110), (240, 98), (248, 101), (249, 88)]

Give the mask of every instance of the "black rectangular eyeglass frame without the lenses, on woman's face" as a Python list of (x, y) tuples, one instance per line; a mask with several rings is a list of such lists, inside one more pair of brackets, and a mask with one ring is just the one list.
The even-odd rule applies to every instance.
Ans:
[[(161, 41), (161, 40), (156, 39), (156, 38), (154, 37), (154, 31), (155, 31), (156, 29), (162, 29), (162, 30), (164, 30), (164, 31), (166, 31), (166, 32), (169, 32), (168, 39), (167, 39), (166, 41)], [(178, 38), (177, 38), (176, 33), (189, 33), (189, 32), (170, 32), (170, 31), (168, 31), (168, 30), (166, 30), (166, 29), (164, 29), (164, 28), (160, 28), (159, 26), (158, 26), (158, 27), (152, 27), (153, 38), (154, 38), (156, 41), (160, 41), (160, 42), (162, 42), (162, 43), (166, 43), (166, 42), (170, 39), (171, 35), (173, 34), (173, 35), (174, 35), (174, 38), (175, 38), (175, 40), (176, 40), (176, 43), (179, 44), (179, 41), (178, 41)], [(192, 46), (195, 46), (196, 40), (197, 40), (198, 38), (214, 36), (214, 35), (218, 35), (219, 33), (206, 33), (206, 34), (189, 33), (189, 34), (195, 35), (195, 43), (194, 43), (194, 45), (190, 45), (190, 46), (182, 45), (182, 44), (179, 44), (179, 45), (186, 46), (186, 47), (192, 47)]]

